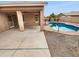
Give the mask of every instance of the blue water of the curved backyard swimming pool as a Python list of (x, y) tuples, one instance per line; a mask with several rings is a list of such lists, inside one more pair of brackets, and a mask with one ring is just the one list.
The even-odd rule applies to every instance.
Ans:
[(79, 30), (79, 27), (76, 27), (74, 25), (68, 25), (65, 23), (51, 22), (49, 24), (54, 30), (57, 31), (76, 32)]

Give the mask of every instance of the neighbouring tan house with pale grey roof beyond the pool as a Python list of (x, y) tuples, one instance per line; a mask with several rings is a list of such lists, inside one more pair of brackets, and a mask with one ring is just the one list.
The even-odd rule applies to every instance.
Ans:
[(79, 11), (64, 13), (64, 16), (60, 18), (60, 21), (79, 23)]

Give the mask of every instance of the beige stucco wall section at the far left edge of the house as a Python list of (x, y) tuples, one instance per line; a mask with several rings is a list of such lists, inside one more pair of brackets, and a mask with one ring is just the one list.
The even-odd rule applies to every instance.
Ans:
[(9, 29), (8, 17), (4, 13), (0, 13), (0, 32)]

